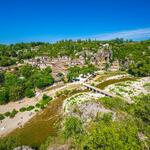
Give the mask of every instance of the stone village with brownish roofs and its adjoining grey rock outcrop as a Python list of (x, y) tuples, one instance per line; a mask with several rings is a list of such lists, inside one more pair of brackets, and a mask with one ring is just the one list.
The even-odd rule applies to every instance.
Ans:
[[(74, 66), (80, 66), (83, 67), (86, 65), (86, 59), (84, 57), (85, 53), (78, 53), (76, 54), (76, 58), (71, 59), (68, 56), (62, 56), (62, 57), (56, 57), (56, 58), (50, 58), (48, 56), (36, 56), (35, 58), (26, 59), (23, 61), (23, 63), (17, 63), (13, 66), (8, 67), (0, 67), (1, 71), (8, 70), (12, 71), (16, 67), (23, 66), (25, 64), (29, 64), (35, 67), (38, 67), (40, 69), (45, 69), (46, 67), (52, 68), (52, 75), (55, 79), (55, 82), (59, 82), (63, 77), (66, 77), (68, 68), (74, 67)], [(100, 45), (100, 49), (97, 53), (89, 53), (86, 51), (86, 55), (89, 58), (88, 62), (90, 64), (93, 64), (100, 70), (105, 70), (106, 65), (109, 64), (108, 70), (110, 71), (117, 71), (119, 70), (119, 62), (118, 60), (113, 61), (112, 64), (110, 64), (110, 60), (113, 57), (113, 52), (109, 46), (109, 44), (103, 44)]]

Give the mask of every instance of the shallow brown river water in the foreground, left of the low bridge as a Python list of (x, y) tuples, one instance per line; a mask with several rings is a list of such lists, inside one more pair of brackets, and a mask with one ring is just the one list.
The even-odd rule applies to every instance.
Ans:
[(39, 147), (48, 136), (57, 136), (62, 119), (61, 108), (63, 101), (75, 93), (61, 95), (50, 102), (47, 108), (33, 117), (23, 128), (16, 129), (9, 136), (15, 136), (22, 145)]

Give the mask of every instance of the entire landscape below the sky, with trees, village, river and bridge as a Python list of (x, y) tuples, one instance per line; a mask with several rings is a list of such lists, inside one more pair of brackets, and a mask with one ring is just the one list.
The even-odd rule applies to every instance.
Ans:
[(0, 150), (149, 150), (150, 40), (0, 45)]

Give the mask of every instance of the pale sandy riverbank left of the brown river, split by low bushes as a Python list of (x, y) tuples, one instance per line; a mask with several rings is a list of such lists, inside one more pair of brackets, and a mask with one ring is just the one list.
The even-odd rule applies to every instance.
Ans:
[[(53, 89), (50, 91), (45, 91), (43, 93), (39, 93), (38, 96), (32, 98), (32, 99), (23, 99), (20, 102), (11, 102), (6, 105), (0, 106), (0, 113), (5, 113), (7, 111), (11, 111), (13, 109), (19, 110), (22, 107), (26, 106), (34, 106), (37, 102), (39, 102), (42, 99), (43, 94), (47, 94), (49, 96), (55, 97), (55, 94), (57, 92), (60, 92), (64, 89), (71, 89), (74, 87), (77, 87), (79, 83), (68, 83), (62, 87), (59, 87), (57, 89)], [(0, 137), (4, 137), (11, 133), (13, 130), (23, 127), (32, 117), (34, 117), (37, 114), (36, 111), (26, 111), (26, 112), (18, 112), (14, 118), (5, 118), (0, 122)]]

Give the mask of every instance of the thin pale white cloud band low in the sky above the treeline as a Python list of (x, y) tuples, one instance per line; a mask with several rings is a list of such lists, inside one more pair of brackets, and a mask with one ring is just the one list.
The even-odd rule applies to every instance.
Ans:
[(56, 42), (62, 39), (97, 39), (97, 40), (111, 40), (115, 38), (124, 38), (124, 39), (132, 39), (132, 40), (144, 40), (150, 39), (150, 28), (143, 28), (143, 29), (136, 29), (136, 30), (126, 30), (126, 31), (119, 31), (119, 32), (112, 32), (112, 33), (104, 33), (99, 35), (89, 35), (89, 36), (81, 36), (81, 37), (50, 37), (50, 36), (34, 36), (29, 38), (23, 39), (15, 39), (15, 40), (0, 40), (0, 43), (16, 43), (16, 42), (30, 42), (30, 41), (43, 41), (43, 42)]

